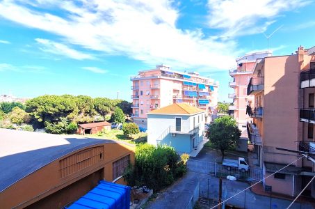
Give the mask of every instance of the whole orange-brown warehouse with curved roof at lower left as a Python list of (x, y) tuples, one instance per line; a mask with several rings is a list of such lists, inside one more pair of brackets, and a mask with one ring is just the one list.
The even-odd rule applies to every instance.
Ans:
[(124, 184), (135, 146), (0, 129), (0, 208), (63, 208), (98, 185)]

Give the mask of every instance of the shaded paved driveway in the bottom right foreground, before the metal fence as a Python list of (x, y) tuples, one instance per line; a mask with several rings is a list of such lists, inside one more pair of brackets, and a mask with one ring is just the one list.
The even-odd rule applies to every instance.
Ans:
[[(188, 171), (184, 178), (181, 178), (177, 181), (177, 183), (166, 189), (164, 192), (160, 193), (154, 201), (148, 203), (146, 208), (186, 208), (188, 201), (191, 199), (192, 191), (195, 189), (199, 181), (201, 196), (209, 196), (210, 199), (218, 199), (218, 178), (207, 174)], [(223, 199), (227, 199), (230, 196), (237, 194), (248, 186), (249, 185), (247, 183), (224, 179)], [(227, 203), (239, 208), (244, 208), (245, 206), (245, 208), (263, 209), (287, 208), (291, 201), (275, 198), (270, 199), (268, 196), (260, 196), (248, 189), (246, 194), (242, 192), (238, 196), (235, 196), (233, 199), (227, 201)], [(207, 205), (207, 207), (209, 207), (209, 205)], [(294, 203), (291, 208), (311, 209), (314, 208), (314, 206), (312, 206), (311, 203)]]

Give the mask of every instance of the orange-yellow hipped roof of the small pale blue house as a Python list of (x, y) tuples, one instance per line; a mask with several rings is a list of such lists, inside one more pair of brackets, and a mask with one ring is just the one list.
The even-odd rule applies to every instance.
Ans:
[(193, 115), (205, 112), (204, 109), (193, 107), (186, 103), (174, 103), (160, 109), (155, 109), (147, 114), (179, 114), (179, 115)]

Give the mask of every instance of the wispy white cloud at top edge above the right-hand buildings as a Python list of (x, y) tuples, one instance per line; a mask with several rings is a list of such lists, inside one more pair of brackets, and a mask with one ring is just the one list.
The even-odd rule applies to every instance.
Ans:
[[(234, 37), (262, 33), (275, 17), (288, 10), (307, 5), (304, 0), (209, 0), (209, 26), (225, 30), (223, 36)], [(263, 20), (264, 23), (260, 21)]]

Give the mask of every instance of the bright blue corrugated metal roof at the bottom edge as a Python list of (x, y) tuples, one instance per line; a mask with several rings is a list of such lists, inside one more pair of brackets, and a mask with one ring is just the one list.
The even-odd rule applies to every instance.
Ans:
[(115, 208), (130, 207), (130, 187), (101, 180), (99, 185), (75, 201), (69, 209), (76, 208)]

